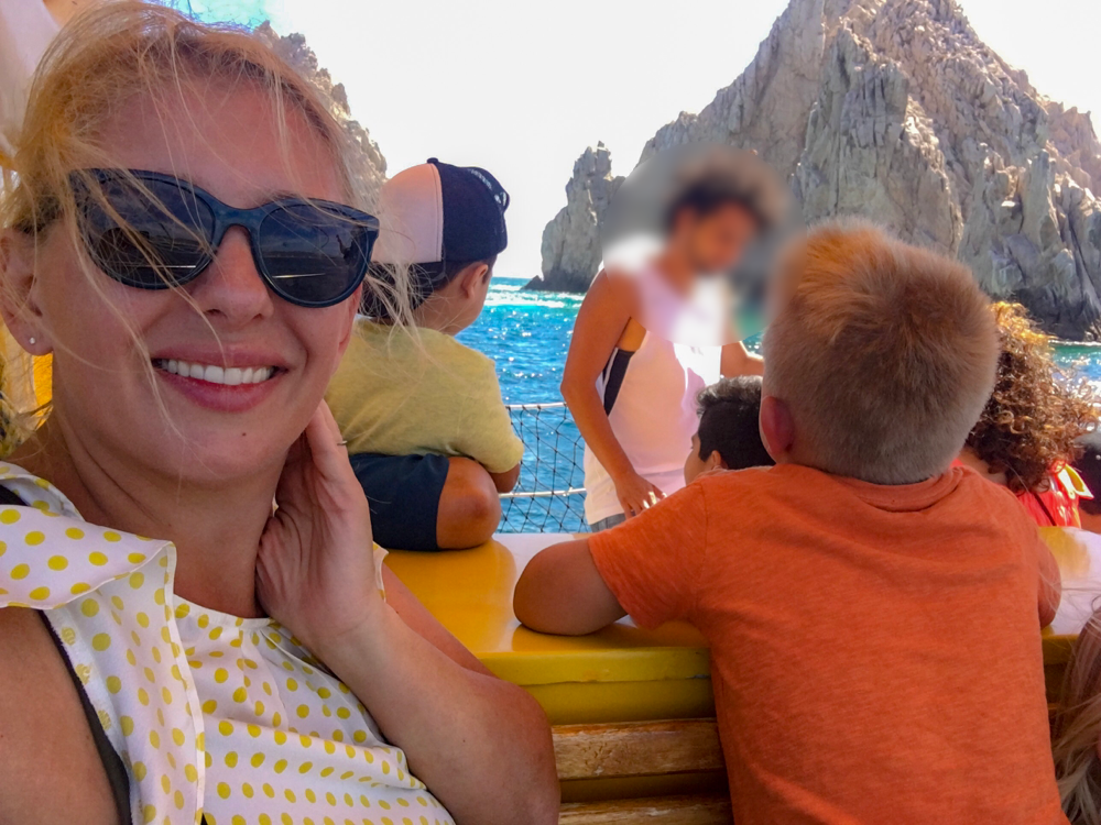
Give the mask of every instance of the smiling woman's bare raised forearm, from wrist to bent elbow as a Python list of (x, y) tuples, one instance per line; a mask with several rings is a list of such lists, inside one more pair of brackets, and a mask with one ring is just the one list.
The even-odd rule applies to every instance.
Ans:
[(391, 608), (315, 651), (459, 825), (557, 822), (549, 727), (520, 688), (460, 667)]

